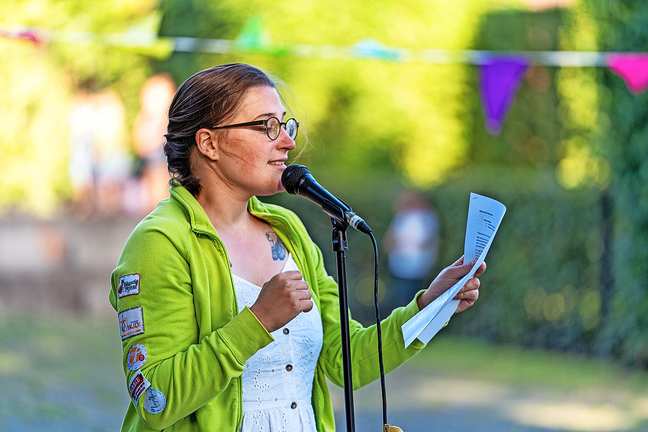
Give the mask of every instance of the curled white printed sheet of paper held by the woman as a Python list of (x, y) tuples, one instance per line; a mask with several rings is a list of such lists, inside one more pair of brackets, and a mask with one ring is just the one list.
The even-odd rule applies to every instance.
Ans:
[(478, 260), (465, 277), (403, 324), (405, 347), (409, 347), (414, 339), (428, 343), (457, 310), (459, 301), (454, 300), (454, 296), (484, 262), (505, 212), (506, 207), (502, 203), (486, 196), (470, 193), (464, 262), (471, 262), (475, 258)]

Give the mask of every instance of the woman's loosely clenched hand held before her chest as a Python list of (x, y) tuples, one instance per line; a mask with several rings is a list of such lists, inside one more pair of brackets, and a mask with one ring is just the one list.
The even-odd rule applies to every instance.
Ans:
[(302, 278), (301, 271), (284, 271), (274, 275), (261, 287), (259, 297), (250, 310), (268, 332), (274, 332), (300, 312), (313, 308), (308, 282)]

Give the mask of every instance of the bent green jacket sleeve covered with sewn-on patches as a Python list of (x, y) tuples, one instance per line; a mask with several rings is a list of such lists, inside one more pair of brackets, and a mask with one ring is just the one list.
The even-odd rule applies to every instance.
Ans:
[(199, 337), (191, 251), (178, 243), (155, 229), (136, 229), (111, 278), (126, 387), (141, 420), (155, 430), (213, 399), (242, 374), (247, 359), (273, 341), (249, 308)]

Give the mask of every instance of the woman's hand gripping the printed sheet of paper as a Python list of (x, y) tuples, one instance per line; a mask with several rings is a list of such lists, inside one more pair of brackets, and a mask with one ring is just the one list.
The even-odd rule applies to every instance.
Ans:
[[(439, 297), (445, 291), (450, 289), (454, 284), (456, 284), (462, 277), (470, 273), (470, 269), (474, 266), (476, 260), (469, 262), (468, 264), (463, 264), (463, 256), (459, 258), (452, 266), (445, 267), (441, 270), (441, 273), (432, 281), (428, 289), (419, 295), (417, 303), (419, 304), (419, 310), (422, 310), (425, 306), (428, 306), (434, 299)], [(483, 262), (481, 266), (475, 272), (475, 275), (471, 277), (464, 286), (461, 287), (459, 293), (454, 297), (459, 302), (457, 310), (455, 313), (462, 312), (472, 306), (474, 302), (480, 295), (480, 280), (478, 277), (486, 270), (486, 263)]]

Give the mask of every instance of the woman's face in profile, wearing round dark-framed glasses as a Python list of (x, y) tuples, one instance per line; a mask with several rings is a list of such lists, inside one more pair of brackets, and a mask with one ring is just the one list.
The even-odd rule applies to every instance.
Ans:
[[(273, 87), (252, 87), (242, 100), (240, 109), (227, 124), (267, 120), (284, 122), (286, 110)], [(286, 169), (288, 151), (295, 148), (282, 126), (274, 141), (266, 135), (265, 126), (232, 128), (218, 139), (219, 159), (216, 169), (227, 184), (253, 195), (272, 195), (284, 190), (281, 174)]]

